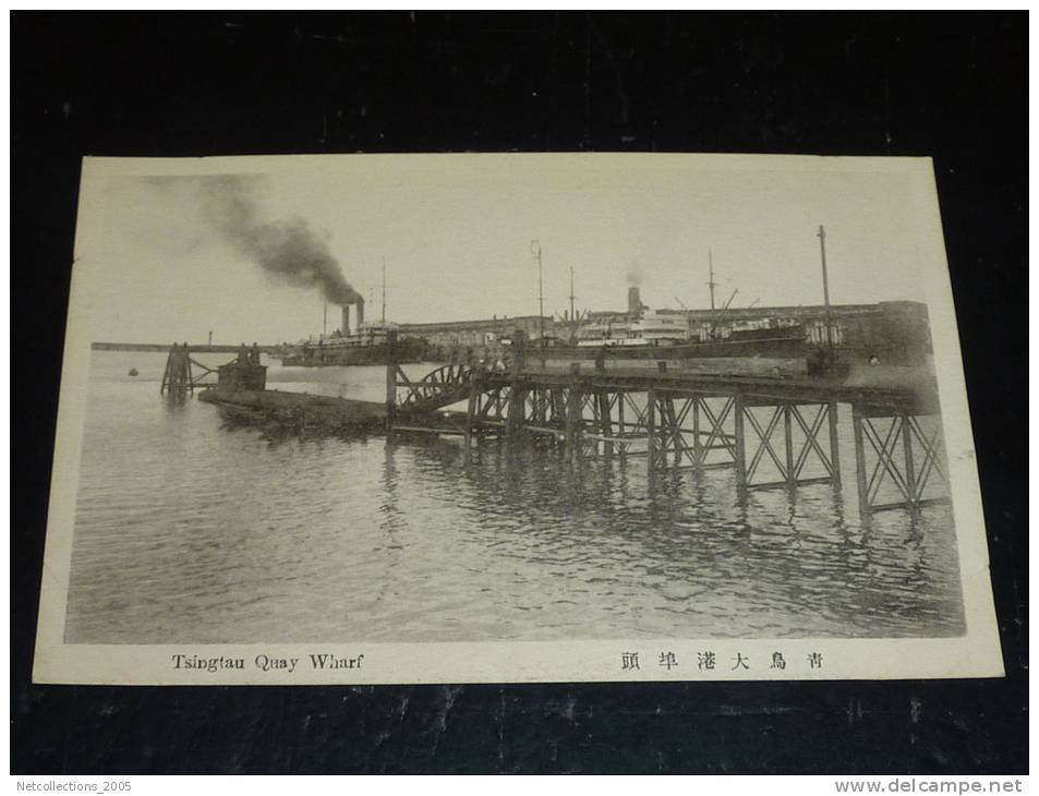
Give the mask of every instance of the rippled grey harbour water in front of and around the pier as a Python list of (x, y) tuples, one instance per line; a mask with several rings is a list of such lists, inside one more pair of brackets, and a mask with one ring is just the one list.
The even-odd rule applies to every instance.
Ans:
[[(863, 527), (848, 407), (842, 491), (741, 499), (732, 469), (257, 429), (161, 398), (165, 362), (92, 354), (70, 643), (964, 632), (951, 509)], [(267, 364), (269, 388), (384, 399), (382, 367)]]

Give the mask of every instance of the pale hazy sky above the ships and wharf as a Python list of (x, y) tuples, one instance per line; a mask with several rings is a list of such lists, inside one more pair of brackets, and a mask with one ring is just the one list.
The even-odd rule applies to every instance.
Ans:
[[(229, 233), (241, 226), (223, 212), (230, 200), (249, 203), (249, 224), (274, 230), (264, 246), (287, 225), (313, 232), (313, 245), (369, 299), (370, 318), (379, 315), (383, 257), (388, 319), (534, 314), (534, 239), (546, 313), (568, 306), (571, 266), (580, 309), (623, 310), (631, 284), (653, 307), (677, 307), (676, 297), (708, 306), (709, 248), (720, 302), (738, 288), (734, 306), (820, 303), (820, 224), (832, 301), (923, 298), (909, 181), (863, 159), (748, 167), (676, 155), (347, 155), (106, 168), (112, 162), (88, 164), (81, 192), (74, 300), (89, 305), (94, 339), (201, 342), (212, 329), (219, 342), (270, 342), (321, 331), (321, 290), (254, 262), (257, 246)], [(338, 319), (329, 306), (329, 330)]]

